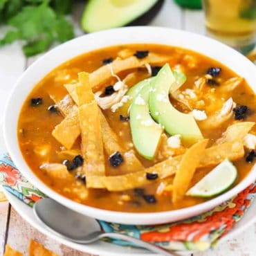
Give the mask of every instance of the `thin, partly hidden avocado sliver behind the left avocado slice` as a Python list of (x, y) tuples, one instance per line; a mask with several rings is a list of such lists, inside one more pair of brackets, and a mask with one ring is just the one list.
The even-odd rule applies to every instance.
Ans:
[(142, 81), (138, 82), (137, 84), (135, 84), (134, 86), (132, 86), (127, 91), (127, 93), (125, 95), (130, 96), (130, 98), (127, 102), (125, 102), (125, 104), (122, 105), (122, 107), (120, 107), (120, 109), (118, 109), (120, 114), (122, 114), (123, 116), (127, 115), (128, 109), (131, 106), (131, 102), (134, 100), (136, 95), (138, 95), (138, 93), (140, 92), (141, 89), (143, 89), (144, 86), (149, 86), (150, 82), (152, 82), (154, 80), (154, 78), (155, 77), (150, 77), (145, 80), (142, 80)]

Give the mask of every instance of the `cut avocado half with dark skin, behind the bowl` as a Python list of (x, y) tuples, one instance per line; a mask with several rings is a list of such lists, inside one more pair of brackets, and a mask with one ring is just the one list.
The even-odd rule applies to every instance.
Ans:
[(88, 33), (120, 26), (146, 25), (157, 15), (164, 0), (89, 0), (82, 15)]

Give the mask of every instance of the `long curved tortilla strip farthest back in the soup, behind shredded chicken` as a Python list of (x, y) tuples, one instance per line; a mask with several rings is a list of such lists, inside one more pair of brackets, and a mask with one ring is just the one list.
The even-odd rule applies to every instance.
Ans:
[(170, 60), (170, 57), (163, 57), (156, 53), (149, 53), (149, 55), (141, 60), (135, 56), (127, 57), (124, 60), (114, 60), (111, 64), (101, 66), (90, 74), (90, 84), (93, 92), (98, 91), (100, 86), (107, 82), (112, 77), (111, 68), (113, 73), (118, 74), (121, 71), (126, 71), (132, 68), (139, 68), (149, 64), (161, 64)]

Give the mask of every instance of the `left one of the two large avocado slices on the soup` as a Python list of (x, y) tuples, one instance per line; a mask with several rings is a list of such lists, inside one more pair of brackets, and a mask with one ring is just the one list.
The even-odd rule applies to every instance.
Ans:
[(130, 109), (130, 125), (132, 140), (138, 153), (151, 160), (158, 149), (163, 128), (149, 114), (150, 89), (150, 84), (144, 86), (134, 98)]

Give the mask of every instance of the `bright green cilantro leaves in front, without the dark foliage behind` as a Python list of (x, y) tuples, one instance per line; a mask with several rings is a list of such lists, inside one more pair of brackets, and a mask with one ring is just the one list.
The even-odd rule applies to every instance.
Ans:
[[(46, 51), (54, 42), (62, 43), (74, 37), (71, 21), (64, 15), (57, 15), (48, 1), (26, 1), (35, 5), (24, 6), (17, 15), (8, 19), (12, 29), (0, 39), (0, 46), (21, 39), (25, 43), (24, 54), (32, 56)], [(38, 2), (42, 3), (36, 5)]]

